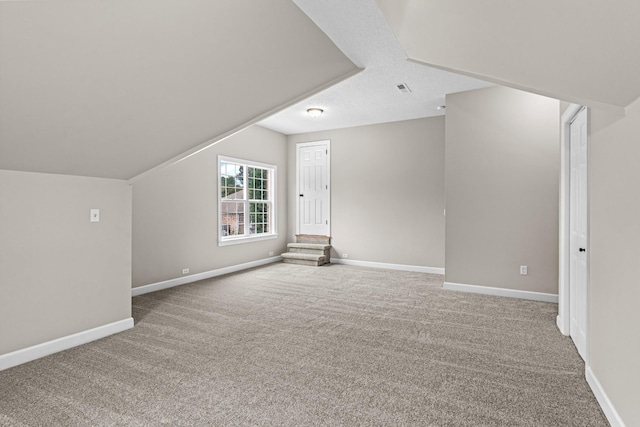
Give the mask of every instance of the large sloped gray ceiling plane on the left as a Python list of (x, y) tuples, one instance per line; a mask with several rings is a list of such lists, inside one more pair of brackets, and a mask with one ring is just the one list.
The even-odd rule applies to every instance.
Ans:
[(0, 169), (132, 178), (356, 71), (290, 0), (0, 2)]

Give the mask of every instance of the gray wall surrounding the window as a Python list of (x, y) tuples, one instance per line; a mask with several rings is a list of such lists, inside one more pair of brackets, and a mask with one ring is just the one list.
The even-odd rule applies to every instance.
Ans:
[[(218, 154), (277, 166), (274, 240), (218, 246)], [(133, 286), (256, 261), (286, 250), (287, 152), (284, 135), (259, 126), (239, 132), (133, 184)]]

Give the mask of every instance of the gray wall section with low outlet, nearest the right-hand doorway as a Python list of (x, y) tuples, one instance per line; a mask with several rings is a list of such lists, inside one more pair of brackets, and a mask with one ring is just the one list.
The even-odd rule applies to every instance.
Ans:
[(504, 87), (447, 96), (447, 282), (558, 293), (559, 108)]

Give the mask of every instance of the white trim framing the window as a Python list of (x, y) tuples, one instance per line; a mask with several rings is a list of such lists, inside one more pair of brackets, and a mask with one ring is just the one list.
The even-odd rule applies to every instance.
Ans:
[[(220, 176), (221, 176), (221, 169), (220, 169), (220, 164), (222, 162), (229, 162), (229, 163), (239, 163), (242, 165), (246, 165), (249, 167), (257, 167), (257, 168), (263, 168), (263, 169), (271, 169), (273, 170), (273, 179), (271, 179), (270, 181), (270, 185), (271, 188), (273, 189), (271, 191), (271, 209), (272, 209), (272, 223), (271, 223), (271, 233), (269, 234), (253, 234), (253, 235), (242, 235), (242, 236), (232, 236), (232, 237), (226, 237), (223, 239), (222, 236), (222, 191), (221, 191), (221, 186), (220, 186)], [(247, 160), (247, 159), (239, 159), (237, 157), (228, 157), (228, 156), (222, 156), (222, 155), (218, 155), (218, 173), (217, 173), (217, 179), (216, 179), (216, 186), (218, 189), (217, 192), (217, 199), (218, 199), (218, 223), (217, 223), (217, 228), (218, 228), (218, 246), (229, 246), (229, 245), (237, 245), (240, 243), (249, 243), (249, 242), (257, 242), (257, 241), (261, 241), (261, 240), (272, 240), (272, 239), (277, 239), (278, 238), (278, 212), (277, 212), (277, 206), (278, 206), (278, 191), (277, 191), (277, 187), (278, 187), (278, 167), (276, 165), (271, 165), (268, 163), (262, 163), (262, 162), (255, 162), (253, 160)], [(246, 189), (246, 187), (245, 187)]]

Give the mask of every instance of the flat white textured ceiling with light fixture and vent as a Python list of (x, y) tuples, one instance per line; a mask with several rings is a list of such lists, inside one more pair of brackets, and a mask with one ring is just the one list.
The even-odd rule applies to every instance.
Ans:
[[(294, 0), (342, 52), (364, 70), (259, 122), (291, 135), (444, 114), (445, 95), (491, 86), (407, 61), (375, 0)], [(396, 88), (405, 83), (411, 93)], [(307, 108), (324, 114), (309, 117)]]

